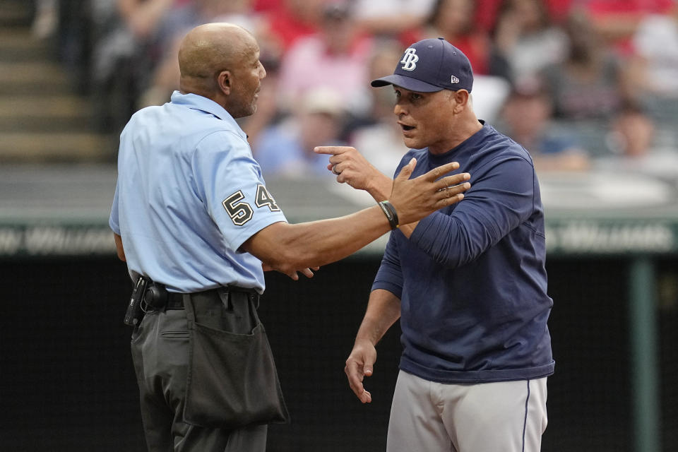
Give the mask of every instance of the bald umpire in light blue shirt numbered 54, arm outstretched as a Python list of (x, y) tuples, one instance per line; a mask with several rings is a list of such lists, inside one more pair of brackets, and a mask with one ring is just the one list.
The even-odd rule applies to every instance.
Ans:
[(126, 321), (145, 438), (149, 451), (264, 451), (267, 424), (287, 410), (256, 314), (263, 271), (311, 277), (460, 201), (469, 175), (440, 177), (453, 162), (409, 179), (412, 160), (388, 201), (290, 225), (234, 121), (256, 111), (266, 76), (254, 37), (201, 25), (179, 66), (171, 102), (141, 109), (121, 133), (109, 220), (135, 282)]

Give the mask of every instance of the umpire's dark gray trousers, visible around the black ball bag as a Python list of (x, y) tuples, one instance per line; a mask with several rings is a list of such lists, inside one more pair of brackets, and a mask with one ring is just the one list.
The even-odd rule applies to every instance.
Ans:
[(263, 452), (268, 426), (211, 429), (183, 420), (189, 331), (182, 309), (146, 314), (132, 334), (132, 359), (150, 452)]

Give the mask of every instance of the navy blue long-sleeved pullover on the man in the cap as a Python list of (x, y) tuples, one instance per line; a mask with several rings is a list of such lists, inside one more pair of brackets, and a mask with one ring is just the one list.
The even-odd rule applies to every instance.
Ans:
[(401, 303), (400, 369), (429, 381), (480, 383), (553, 373), (544, 213), (532, 159), (484, 124), (442, 155), (410, 150), (412, 177), (447, 162), (471, 174), (453, 206), (391, 232), (372, 289)]

